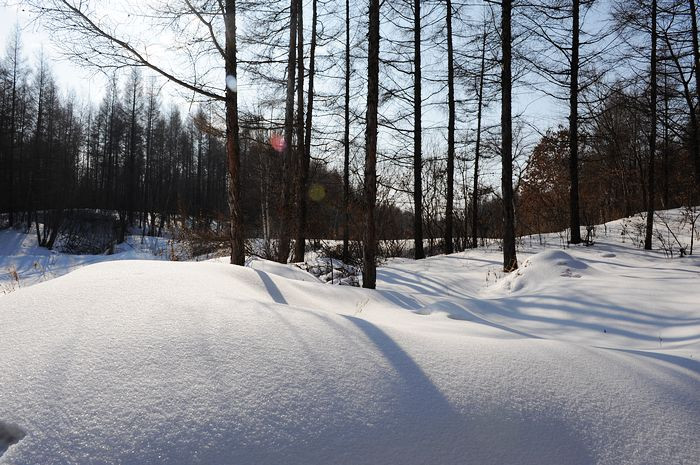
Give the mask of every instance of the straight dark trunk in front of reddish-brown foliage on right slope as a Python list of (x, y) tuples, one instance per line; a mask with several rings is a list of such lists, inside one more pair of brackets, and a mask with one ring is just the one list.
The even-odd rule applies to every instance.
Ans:
[(572, 3), (571, 26), (571, 89), (569, 94), (569, 227), (572, 244), (581, 243), (581, 220), (578, 198), (578, 71), (579, 71), (579, 0)]

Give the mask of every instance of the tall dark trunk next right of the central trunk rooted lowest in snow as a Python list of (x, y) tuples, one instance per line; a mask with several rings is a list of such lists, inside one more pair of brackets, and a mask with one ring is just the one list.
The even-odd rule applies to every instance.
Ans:
[(413, 16), (413, 47), (414, 60), (414, 84), (413, 84), (413, 240), (415, 258), (425, 258), (423, 250), (423, 157), (421, 154), (423, 140), (423, 128), (421, 120), (422, 92), (421, 92), (421, 52), (420, 52), (420, 2), (414, 0)]

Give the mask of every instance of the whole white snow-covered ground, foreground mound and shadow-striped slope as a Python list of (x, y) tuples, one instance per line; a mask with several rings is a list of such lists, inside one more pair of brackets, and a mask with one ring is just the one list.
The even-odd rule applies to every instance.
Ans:
[(700, 463), (700, 258), (639, 221), (526, 238), (508, 276), (496, 249), (390, 260), (377, 291), (262, 260), (22, 286), (0, 464)]

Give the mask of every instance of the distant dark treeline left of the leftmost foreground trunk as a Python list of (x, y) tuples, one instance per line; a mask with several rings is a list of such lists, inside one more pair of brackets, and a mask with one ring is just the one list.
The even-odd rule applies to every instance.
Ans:
[(26, 63), (16, 31), (0, 64), (0, 211), (49, 248), (73, 210), (115, 212), (121, 241), (137, 223), (156, 235), (172, 215), (221, 216), (226, 159), (207, 127), (203, 112), (163, 110), (136, 71), (99, 105), (65, 95), (44, 59)]

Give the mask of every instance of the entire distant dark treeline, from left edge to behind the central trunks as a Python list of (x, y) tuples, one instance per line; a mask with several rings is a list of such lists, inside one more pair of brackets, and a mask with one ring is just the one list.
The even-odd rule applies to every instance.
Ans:
[[(61, 225), (75, 211), (114, 215), (117, 241), (129, 228), (160, 236), (173, 220), (192, 227), (228, 223), (225, 135), (217, 108), (183, 115), (165, 106), (153, 79), (138, 71), (117, 75), (98, 105), (65, 94), (49, 64), (26, 63), (18, 32), (0, 62), (0, 217), (36, 228), (42, 246), (52, 248)], [(279, 199), (287, 177), (274, 141), (259, 116), (241, 131), (241, 185), (246, 237), (277, 237), (282, 227)], [(341, 238), (342, 173), (311, 163), (309, 180), (312, 238)], [(351, 217), (361, 217), (355, 188)], [(410, 235), (412, 216), (389, 199), (380, 209), (382, 237)], [(359, 239), (360, 225), (350, 231)]]

